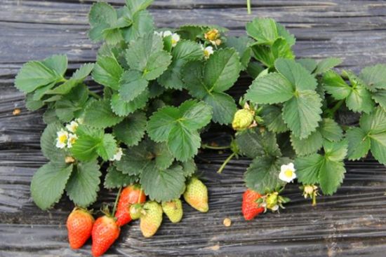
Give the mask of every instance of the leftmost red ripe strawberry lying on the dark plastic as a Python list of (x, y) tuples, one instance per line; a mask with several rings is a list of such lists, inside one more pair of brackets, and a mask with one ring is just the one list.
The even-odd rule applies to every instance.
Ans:
[(69, 246), (79, 249), (93, 230), (94, 218), (86, 209), (75, 208), (67, 218), (67, 230)]

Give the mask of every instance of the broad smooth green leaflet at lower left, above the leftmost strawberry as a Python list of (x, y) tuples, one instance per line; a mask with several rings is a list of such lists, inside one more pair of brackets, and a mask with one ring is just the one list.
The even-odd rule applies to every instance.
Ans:
[(71, 172), (72, 165), (65, 162), (48, 162), (36, 171), (31, 181), (31, 195), (40, 209), (49, 209), (59, 202)]

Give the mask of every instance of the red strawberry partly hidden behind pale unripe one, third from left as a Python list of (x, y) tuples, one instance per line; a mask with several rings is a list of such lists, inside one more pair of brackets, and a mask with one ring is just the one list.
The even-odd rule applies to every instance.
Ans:
[(130, 206), (131, 204), (145, 202), (146, 195), (138, 185), (126, 186), (122, 190), (119, 196), (119, 202), (117, 205), (117, 212), (115, 217), (117, 218), (117, 224), (119, 226), (125, 225), (131, 221)]

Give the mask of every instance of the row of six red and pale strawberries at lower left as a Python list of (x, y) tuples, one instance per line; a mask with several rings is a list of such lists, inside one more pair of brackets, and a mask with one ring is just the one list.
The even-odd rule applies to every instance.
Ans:
[[(208, 211), (208, 189), (199, 179), (193, 177), (183, 194), (185, 201), (201, 212)], [(182, 202), (174, 199), (168, 202), (147, 201), (146, 195), (138, 185), (124, 188), (119, 195), (117, 211), (94, 220), (91, 213), (76, 207), (67, 218), (69, 246), (79, 249), (92, 237), (91, 252), (94, 257), (101, 256), (119, 237), (121, 226), (140, 219), (140, 230), (144, 237), (152, 237), (162, 223), (162, 214), (173, 223), (182, 218)]]

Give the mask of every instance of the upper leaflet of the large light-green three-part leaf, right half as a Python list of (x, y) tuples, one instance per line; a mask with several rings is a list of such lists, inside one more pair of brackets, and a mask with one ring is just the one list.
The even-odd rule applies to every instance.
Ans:
[(296, 90), (315, 90), (317, 88), (317, 81), (310, 71), (294, 60), (280, 58), (274, 65), (279, 74), (288, 79)]

